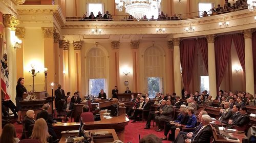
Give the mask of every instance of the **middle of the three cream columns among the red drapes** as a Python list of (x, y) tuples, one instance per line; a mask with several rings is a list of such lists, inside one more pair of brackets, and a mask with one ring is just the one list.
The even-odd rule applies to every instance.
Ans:
[(215, 99), (217, 96), (214, 41), (215, 41), (215, 35), (207, 35), (209, 93), (212, 96), (212, 99)]

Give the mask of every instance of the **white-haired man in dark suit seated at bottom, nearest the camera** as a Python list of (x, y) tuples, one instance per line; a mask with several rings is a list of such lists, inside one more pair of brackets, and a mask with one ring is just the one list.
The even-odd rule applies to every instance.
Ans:
[(210, 142), (210, 138), (212, 136), (212, 128), (210, 126), (210, 116), (209, 115), (202, 115), (201, 123), (202, 127), (197, 131), (197, 133), (188, 133), (187, 135), (181, 134), (177, 137), (174, 143), (205, 143)]

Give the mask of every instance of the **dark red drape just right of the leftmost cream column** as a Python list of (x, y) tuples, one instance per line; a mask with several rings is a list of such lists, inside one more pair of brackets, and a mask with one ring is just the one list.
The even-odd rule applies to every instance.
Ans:
[[(189, 90), (195, 57), (196, 39), (185, 39), (180, 43), (180, 62), (185, 91)], [(189, 92), (189, 91), (188, 91)]]

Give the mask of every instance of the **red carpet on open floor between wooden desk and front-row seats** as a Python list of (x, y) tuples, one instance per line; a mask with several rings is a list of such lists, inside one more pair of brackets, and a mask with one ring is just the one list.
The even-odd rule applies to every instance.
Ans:
[[(146, 122), (139, 121), (136, 123), (129, 123), (127, 126), (125, 126), (124, 130), (124, 142), (129, 142), (131, 141), (132, 143), (138, 143), (139, 142), (139, 134), (140, 138), (143, 136), (146, 136), (148, 134), (155, 134), (159, 138), (164, 136), (164, 131), (157, 132), (155, 131), (156, 126), (153, 127), (153, 121), (151, 123), (151, 128), (150, 129), (144, 129), (145, 128)], [(156, 125), (156, 124), (155, 124)], [(170, 141), (163, 141), (164, 143), (170, 142)]]

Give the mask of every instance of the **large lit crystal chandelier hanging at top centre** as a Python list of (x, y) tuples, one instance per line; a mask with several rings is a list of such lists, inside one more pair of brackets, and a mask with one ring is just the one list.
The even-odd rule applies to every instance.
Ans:
[(115, 0), (116, 9), (129, 13), (136, 19), (141, 19), (151, 10), (151, 5), (158, 5), (162, 0)]

